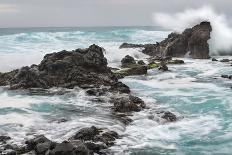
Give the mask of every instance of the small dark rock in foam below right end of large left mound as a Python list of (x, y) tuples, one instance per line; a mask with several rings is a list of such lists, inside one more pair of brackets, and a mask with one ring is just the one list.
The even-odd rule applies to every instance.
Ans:
[(143, 100), (132, 95), (112, 98), (111, 102), (114, 104), (115, 112), (138, 112), (146, 107)]

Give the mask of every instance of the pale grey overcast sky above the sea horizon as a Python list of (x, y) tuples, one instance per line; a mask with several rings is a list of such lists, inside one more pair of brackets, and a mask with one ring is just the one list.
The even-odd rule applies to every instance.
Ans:
[(232, 0), (0, 0), (0, 27), (146, 26), (156, 12), (204, 5), (231, 19)]

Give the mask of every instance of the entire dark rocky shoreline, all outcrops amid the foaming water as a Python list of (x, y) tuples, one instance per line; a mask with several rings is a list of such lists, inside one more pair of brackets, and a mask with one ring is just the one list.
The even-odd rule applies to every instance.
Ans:
[[(50, 89), (62, 87), (73, 89), (79, 87), (90, 96), (104, 96), (110, 94), (109, 103), (112, 114), (123, 124), (129, 125), (133, 120), (129, 116), (135, 115), (145, 108), (149, 108), (139, 97), (131, 94), (130, 88), (119, 79), (125, 76), (146, 75), (149, 69), (157, 68), (168, 71), (169, 64), (184, 64), (183, 60), (172, 57), (208, 59), (212, 28), (209, 22), (202, 22), (193, 28), (186, 29), (182, 34), (172, 33), (164, 41), (156, 44), (128, 44), (123, 43), (120, 48), (143, 48), (142, 52), (150, 55), (148, 63), (136, 61), (127, 55), (121, 60), (121, 68), (110, 68), (104, 57), (104, 49), (91, 45), (86, 49), (60, 51), (44, 56), (38, 65), (31, 65), (0, 73), (0, 86), (9, 89)], [(212, 59), (212, 61), (218, 61)], [(230, 62), (231, 60), (221, 60)], [(223, 75), (231, 79), (231, 76)], [(177, 116), (169, 111), (157, 111), (156, 114), (166, 122), (175, 122)], [(82, 128), (63, 141), (54, 142), (44, 135), (35, 135), (25, 141), (22, 146), (9, 144), (11, 137), (0, 136), (0, 153), (6, 155), (36, 154), (36, 155), (93, 155), (109, 154), (107, 150), (114, 145), (120, 135), (109, 129), (95, 126)]]

